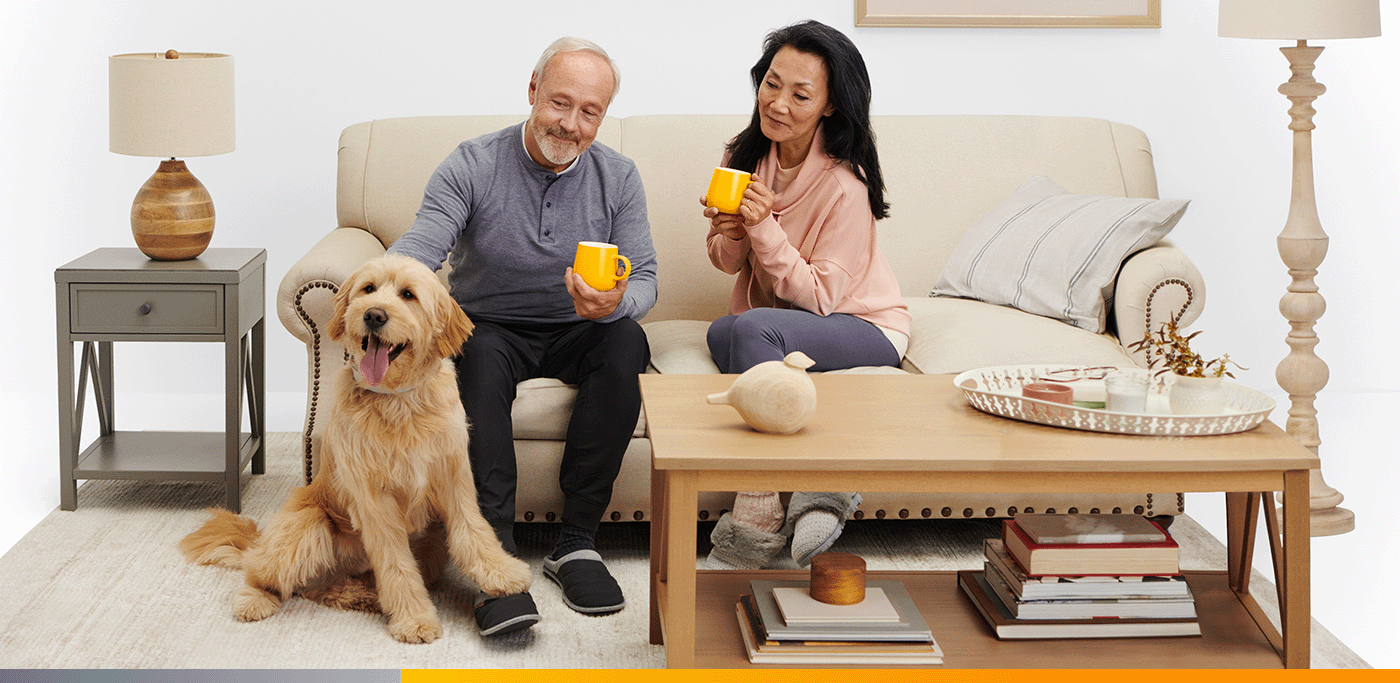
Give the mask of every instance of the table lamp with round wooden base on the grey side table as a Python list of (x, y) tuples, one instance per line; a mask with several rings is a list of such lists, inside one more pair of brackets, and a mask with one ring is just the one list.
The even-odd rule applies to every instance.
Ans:
[(199, 256), (214, 237), (214, 200), (176, 157), (234, 151), (234, 57), (113, 55), (108, 105), (113, 153), (164, 160), (132, 203), (136, 246), (157, 260)]

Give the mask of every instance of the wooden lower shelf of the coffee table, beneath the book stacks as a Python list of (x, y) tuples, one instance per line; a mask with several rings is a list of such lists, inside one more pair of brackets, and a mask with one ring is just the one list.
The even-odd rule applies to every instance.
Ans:
[[(952, 571), (872, 571), (904, 584), (949, 669), (1281, 669), (1278, 631), (1249, 595), (1231, 591), (1224, 571), (1186, 572), (1196, 593), (1201, 637), (997, 640), (958, 588)], [(805, 571), (697, 571), (696, 668), (773, 668), (749, 663), (734, 603), (755, 578), (805, 579)], [(665, 605), (665, 584), (657, 585)], [(662, 614), (665, 623), (668, 614)], [(795, 668), (783, 665), (780, 668)], [(829, 669), (833, 665), (813, 668)]]

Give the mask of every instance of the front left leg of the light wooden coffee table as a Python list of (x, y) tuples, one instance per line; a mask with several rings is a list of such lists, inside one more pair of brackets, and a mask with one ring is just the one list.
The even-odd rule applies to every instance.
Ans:
[(694, 472), (666, 472), (666, 668), (696, 665), (696, 509)]

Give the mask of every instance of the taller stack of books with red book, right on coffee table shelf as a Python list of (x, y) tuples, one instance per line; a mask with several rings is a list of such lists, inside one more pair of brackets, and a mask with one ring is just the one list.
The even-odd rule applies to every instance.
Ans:
[(958, 585), (998, 638), (1200, 635), (1179, 547), (1137, 515), (1018, 515)]

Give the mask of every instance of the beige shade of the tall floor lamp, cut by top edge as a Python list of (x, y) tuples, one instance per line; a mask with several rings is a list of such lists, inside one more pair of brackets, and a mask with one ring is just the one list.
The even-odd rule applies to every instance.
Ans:
[(1380, 35), (1380, 0), (1221, 0), (1221, 38), (1313, 41)]

